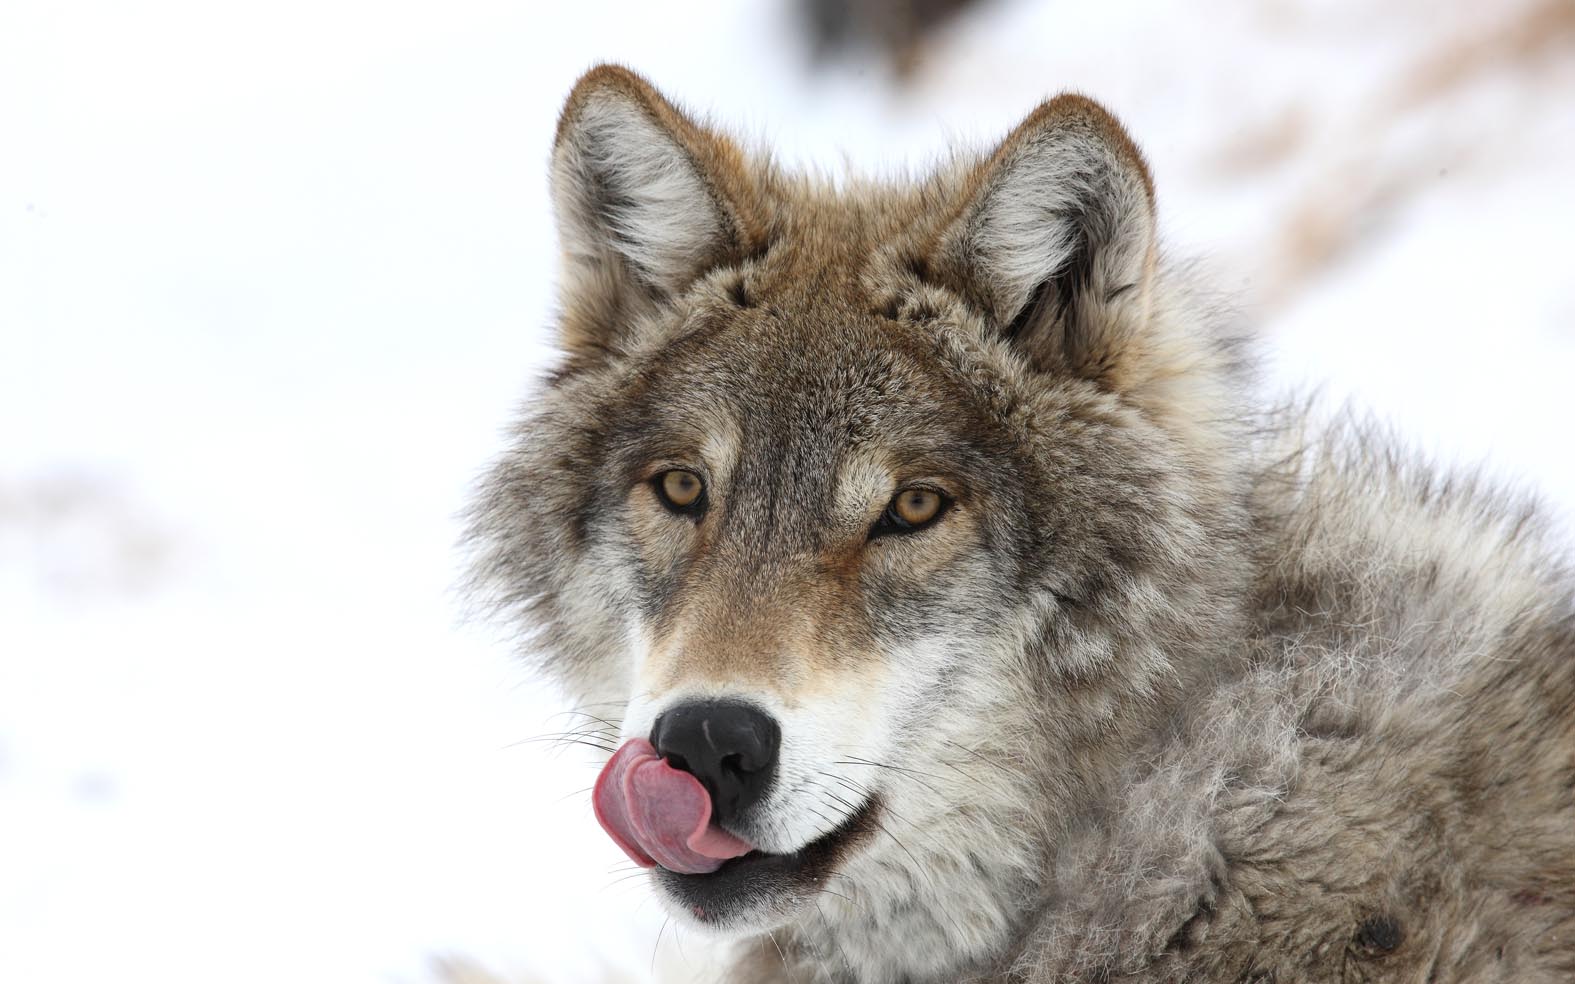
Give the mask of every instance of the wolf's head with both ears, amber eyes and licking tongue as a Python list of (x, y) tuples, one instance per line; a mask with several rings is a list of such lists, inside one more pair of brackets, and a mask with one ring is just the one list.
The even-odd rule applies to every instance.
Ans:
[(1139, 151), (1058, 96), (836, 186), (603, 66), (551, 184), (564, 356), (472, 538), (628, 742), (603, 822), (693, 926), (862, 979), (1006, 953), (1240, 634), (1235, 350)]

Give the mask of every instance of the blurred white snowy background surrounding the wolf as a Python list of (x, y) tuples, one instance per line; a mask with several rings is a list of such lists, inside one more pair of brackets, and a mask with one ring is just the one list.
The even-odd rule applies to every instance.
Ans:
[(1085, 90), (1276, 376), (1575, 513), (1569, 0), (896, 6), (0, 5), (0, 981), (695, 976), (452, 595), (598, 60), (833, 173)]

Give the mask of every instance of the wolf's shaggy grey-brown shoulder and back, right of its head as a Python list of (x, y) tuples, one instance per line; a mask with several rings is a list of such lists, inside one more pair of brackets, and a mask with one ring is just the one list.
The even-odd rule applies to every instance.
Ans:
[(1058, 863), (1006, 981), (1575, 981), (1575, 601), (1526, 501), (1282, 420), (1254, 660)]

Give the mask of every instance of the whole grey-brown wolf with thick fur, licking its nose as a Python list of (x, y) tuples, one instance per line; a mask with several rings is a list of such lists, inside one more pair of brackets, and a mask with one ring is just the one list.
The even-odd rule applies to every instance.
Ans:
[(1575, 576), (1525, 496), (1263, 395), (1062, 94), (791, 173), (621, 66), (476, 586), (728, 981), (1575, 981)]

